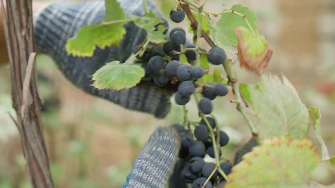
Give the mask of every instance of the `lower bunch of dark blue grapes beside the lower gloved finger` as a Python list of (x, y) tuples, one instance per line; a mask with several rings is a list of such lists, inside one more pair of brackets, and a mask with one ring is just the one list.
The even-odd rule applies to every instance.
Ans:
[[(212, 129), (215, 130), (216, 124), (214, 119), (207, 117), (207, 120)], [(190, 130), (184, 129), (181, 124), (173, 124), (172, 127), (179, 132), (181, 137), (179, 157), (188, 161), (180, 173), (181, 179), (185, 183), (192, 183), (192, 188), (201, 188), (215, 169), (214, 163), (206, 163), (203, 159), (206, 154), (211, 158), (215, 158), (210, 131), (204, 120), (201, 120), (199, 125), (195, 127), (193, 134)], [(219, 134), (220, 147), (228, 144), (229, 137), (224, 131), (216, 130), (214, 134), (215, 136)], [(221, 155), (222, 151), (219, 149), (219, 156)], [(225, 161), (220, 163), (220, 168), (228, 175), (232, 166), (229, 162)], [(225, 179), (216, 171), (205, 187), (212, 188), (222, 181), (225, 181)]]

